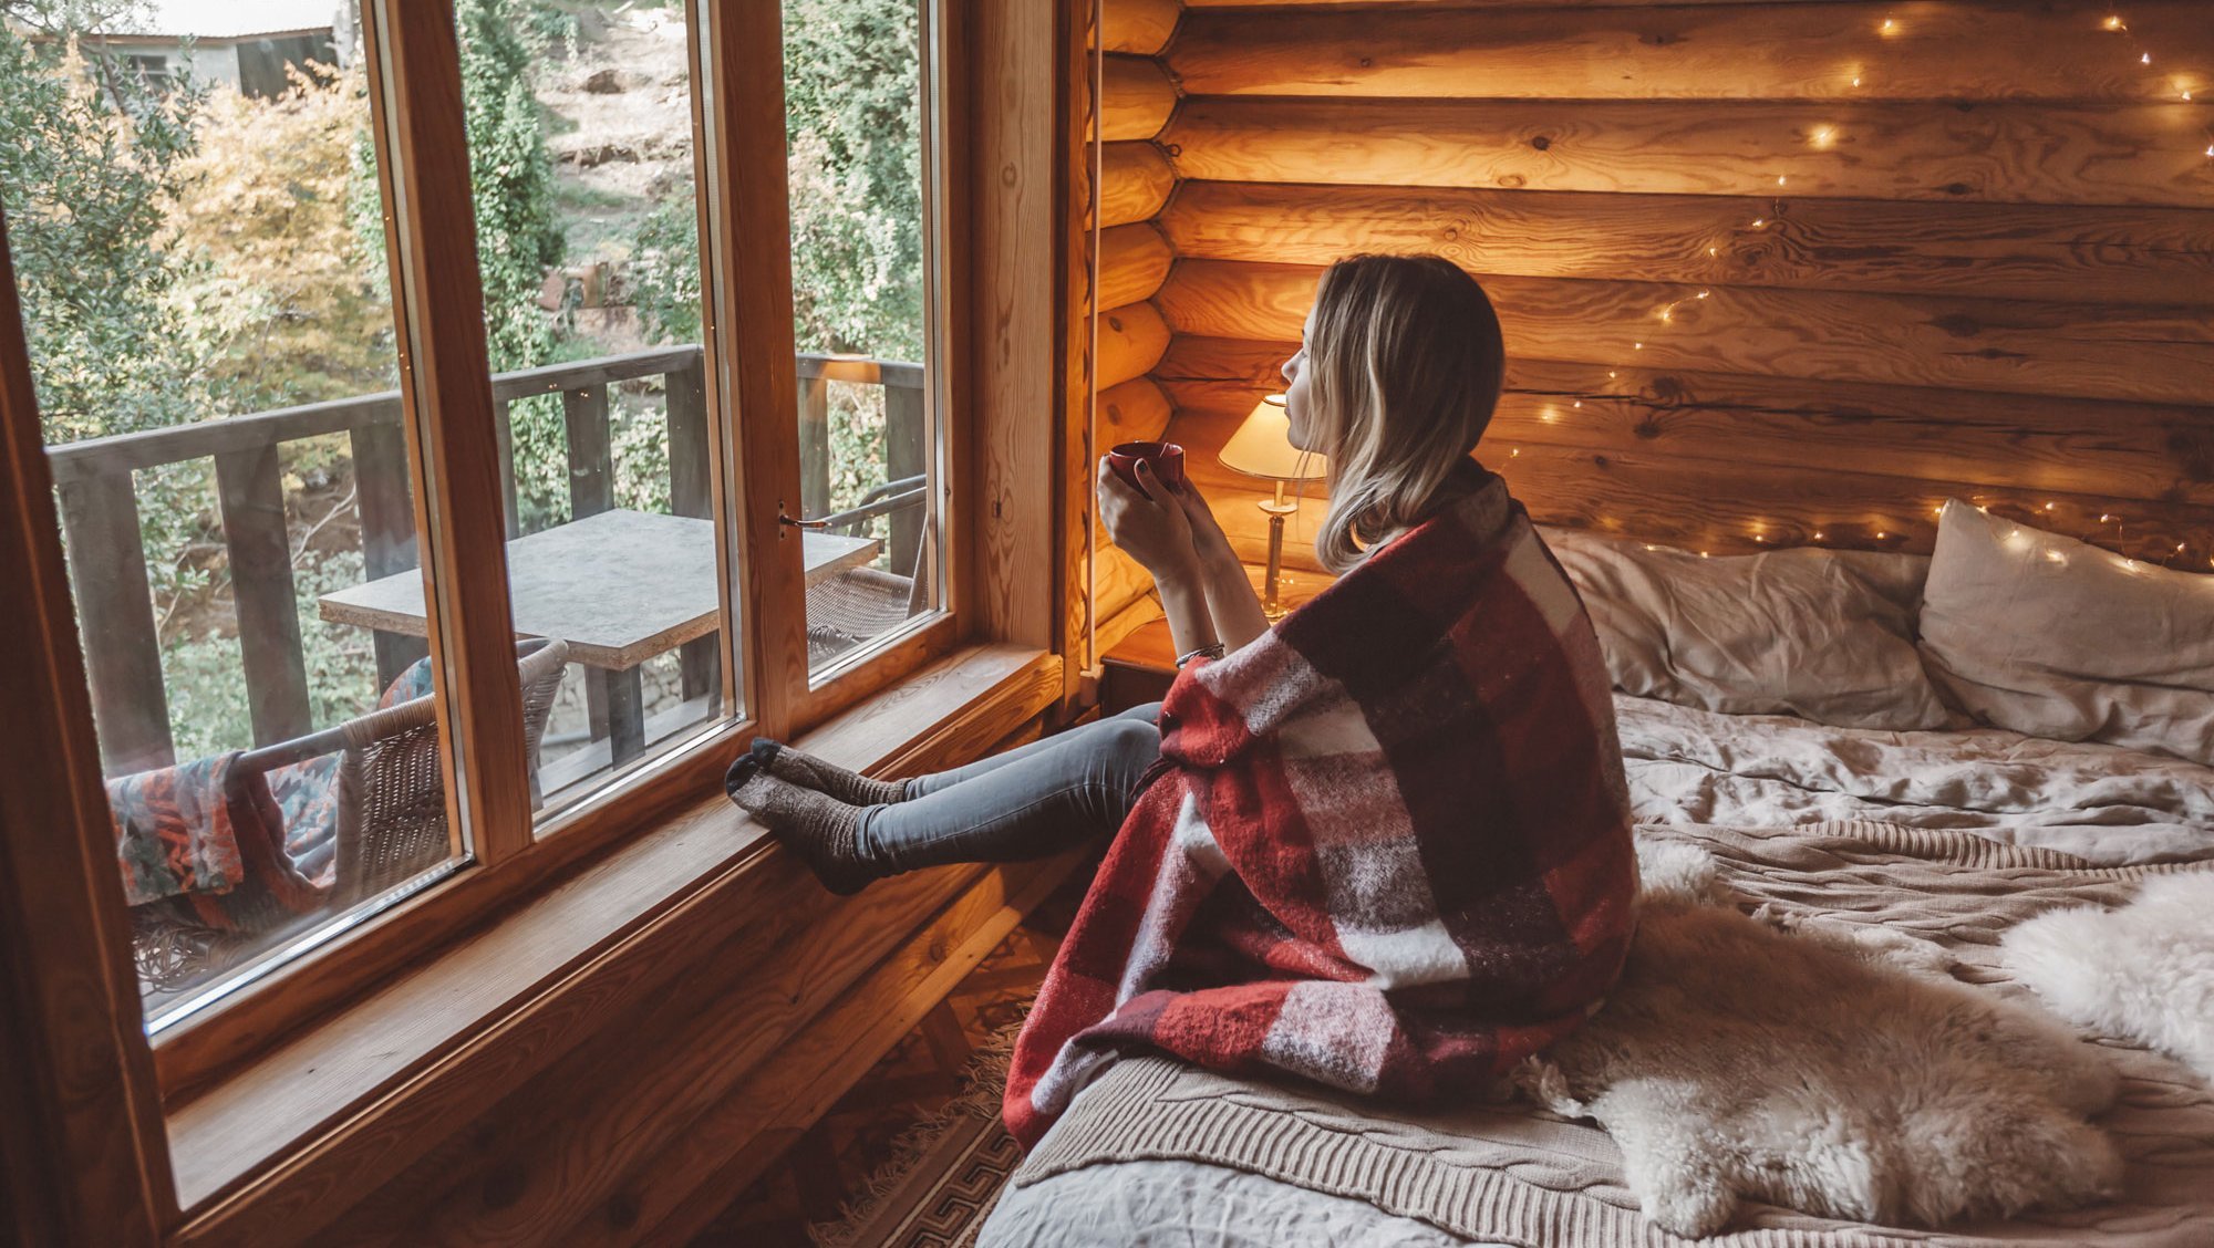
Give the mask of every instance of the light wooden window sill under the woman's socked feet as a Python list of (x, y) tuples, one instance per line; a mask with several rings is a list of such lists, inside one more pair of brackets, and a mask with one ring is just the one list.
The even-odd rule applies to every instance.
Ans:
[[(863, 699), (799, 746), (899, 774), (972, 757), (1058, 695), (1058, 657), (974, 646)], [(410, 1142), (452, 1133), (582, 1033), (649, 1000), (655, 971), (775, 927), (784, 894), (810, 883), (722, 792), (704, 797), (175, 1106), (179, 1208), (190, 1217), (217, 1202), (330, 1202), (368, 1190), (407, 1159)]]

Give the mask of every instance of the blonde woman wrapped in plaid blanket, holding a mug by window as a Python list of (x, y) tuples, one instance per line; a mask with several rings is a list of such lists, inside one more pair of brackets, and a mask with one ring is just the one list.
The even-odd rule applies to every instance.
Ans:
[(1490, 301), (1439, 257), (1339, 261), (1284, 378), (1293, 445), (1331, 460), (1339, 580), (1313, 602), (1269, 628), (1198, 491), (1100, 471), (1182, 655), (1158, 708), (906, 783), (775, 743), (731, 772), (835, 890), (1120, 828), (1016, 1044), (1025, 1144), (1129, 1049), (1479, 1091), (1621, 969), (1636, 865), (1599, 642), (1468, 458), (1503, 378)]

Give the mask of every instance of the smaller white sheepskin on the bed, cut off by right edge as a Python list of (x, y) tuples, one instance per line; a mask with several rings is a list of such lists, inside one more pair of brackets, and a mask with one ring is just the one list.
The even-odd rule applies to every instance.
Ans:
[(2214, 1080), (2214, 872), (2154, 876), (2121, 909), (2039, 914), (1999, 945), (2061, 1018)]

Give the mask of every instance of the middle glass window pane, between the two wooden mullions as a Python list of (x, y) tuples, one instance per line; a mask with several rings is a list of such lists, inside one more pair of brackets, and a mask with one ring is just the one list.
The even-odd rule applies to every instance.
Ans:
[(461, 0), (540, 823), (726, 713), (682, 2)]

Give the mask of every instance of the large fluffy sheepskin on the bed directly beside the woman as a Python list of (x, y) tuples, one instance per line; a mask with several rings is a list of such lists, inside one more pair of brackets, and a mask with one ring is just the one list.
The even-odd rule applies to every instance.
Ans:
[(1623, 980), (1523, 1086), (1607, 1129), (1645, 1217), (1711, 1235), (1758, 1199), (1942, 1226), (2114, 1195), (2086, 1120), (2119, 1078), (2092, 1044), (1944, 978), (1922, 940), (1745, 916), (1703, 850), (1638, 856)]

